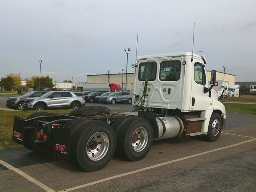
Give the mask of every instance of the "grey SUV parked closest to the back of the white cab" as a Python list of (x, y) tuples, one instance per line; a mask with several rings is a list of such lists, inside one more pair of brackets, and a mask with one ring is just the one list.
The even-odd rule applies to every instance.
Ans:
[(108, 96), (102, 96), (101, 102), (115, 104), (116, 102), (132, 103), (132, 94), (130, 92), (113, 92)]

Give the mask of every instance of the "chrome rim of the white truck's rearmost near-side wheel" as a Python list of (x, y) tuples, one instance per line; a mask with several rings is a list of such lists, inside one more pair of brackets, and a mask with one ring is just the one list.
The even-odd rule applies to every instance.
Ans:
[(97, 132), (88, 140), (86, 144), (86, 153), (91, 160), (98, 161), (106, 155), (108, 148), (108, 136), (103, 132)]

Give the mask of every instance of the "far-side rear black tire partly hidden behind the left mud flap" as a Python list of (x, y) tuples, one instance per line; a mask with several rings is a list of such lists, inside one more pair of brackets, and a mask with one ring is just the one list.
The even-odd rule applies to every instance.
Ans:
[[(36, 118), (39, 116), (53, 116), (53, 115), (56, 115), (56, 114), (48, 113), (48, 112), (36, 112), (36, 113), (30, 114), (29, 116), (27, 116), (26, 119), (32, 119), (32, 118)], [(26, 131), (25, 137), (26, 137), (26, 139), (25, 139), (24, 146), (27, 149), (32, 150), (37, 153), (48, 152), (48, 150), (47, 150), (48, 146), (46, 143), (34, 142), (36, 140), (36, 133), (34, 132), (34, 130)]]

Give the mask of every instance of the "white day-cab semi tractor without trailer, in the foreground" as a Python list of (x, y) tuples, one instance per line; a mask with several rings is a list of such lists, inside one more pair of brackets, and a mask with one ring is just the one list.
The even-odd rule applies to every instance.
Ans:
[(212, 70), (209, 85), (205, 64), (204, 56), (190, 52), (140, 56), (132, 65), (133, 111), (138, 115), (85, 106), (69, 114), (15, 116), (12, 139), (39, 153), (51, 150), (89, 172), (104, 168), (114, 153), (141, 160), (153, 140), (202, 135), (216, 141), (226, 111), (212, 89), (216, 71)]

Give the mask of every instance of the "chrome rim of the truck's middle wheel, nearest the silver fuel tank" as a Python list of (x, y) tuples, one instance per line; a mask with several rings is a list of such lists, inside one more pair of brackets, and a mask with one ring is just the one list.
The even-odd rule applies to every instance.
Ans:
[(144, 150), (148, 143), (148, 132), (144, 127), (140, 127), (132, 134), (132, 148), (136, 152)]

